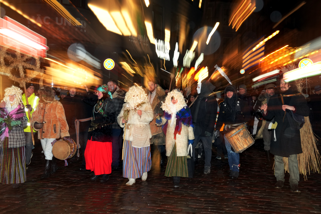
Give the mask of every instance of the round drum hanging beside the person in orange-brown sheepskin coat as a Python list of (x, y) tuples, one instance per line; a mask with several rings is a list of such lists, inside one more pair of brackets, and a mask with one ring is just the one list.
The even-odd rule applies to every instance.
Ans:
[(77, 143), (73, 140), (73, 143), (70, 143), (67, 140), (58, 140), (52, 146), (52, 154), (60, 160), (65, 160), (71, 158), (76, 154)]

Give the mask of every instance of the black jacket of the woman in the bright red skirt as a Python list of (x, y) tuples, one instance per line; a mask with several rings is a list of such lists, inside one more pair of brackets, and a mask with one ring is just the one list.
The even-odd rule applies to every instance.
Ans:
[[(112, 127), (111, 125), (115, 122), (115, 105), (113, 101), (109, 98), (101, 98), (98, 100), (98, 97), (94, 94), (88, 92), (84, 96), (84, 101), (92, 106), (92, 119), (91, 124), (88, 130), (88, 139), (98, 142), (111, 142), (112, 141)], [(99, 109), (97, 110), (96, 104), (102, 102), (103, 112), (106, 114), (103, 116)], [(97, 104), (98, 105), (98, 104)], [(96, 113), (98, 112), (98, 113)]]

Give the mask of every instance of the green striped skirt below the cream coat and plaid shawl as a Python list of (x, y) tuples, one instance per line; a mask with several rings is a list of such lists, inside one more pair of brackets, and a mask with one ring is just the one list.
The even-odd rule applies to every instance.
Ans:
[(176, 143), (174, 144), (172, 152), (168, 158), (165, 176), (188, 177), (187, 156), (177, 156)]

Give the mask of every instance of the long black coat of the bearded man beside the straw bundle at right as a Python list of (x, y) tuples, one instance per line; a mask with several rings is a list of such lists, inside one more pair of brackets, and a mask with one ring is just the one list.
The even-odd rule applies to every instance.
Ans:
[[(290, 88), (284, 95), (295, 94)], [(290, 105), (295, 107), (294, 113), (307, 117), (309, 115), (309, 108), (307, 101), (303, 95), (283, 97), (284, 105)], [(291, 114), (290, 110), (286, 110), (286, 114)], [(275, 117), (275, 121), (278, 123), (275, 129), (272, 130), (271, 136), (271, 150), (273, 155), (289, 157), (290, 155), (302, 153), (300, 130), (291, 130), (288, 117), (284, 115), (282, 110), (281, 95), (276, 94), (270, 97), (267, 104), (266, 115), (263, 115), (265, 119), (271, 120)], [(284, 118), (284, 119), (283, 119)], [(274, 141), (276, 137), (276, 141)]]

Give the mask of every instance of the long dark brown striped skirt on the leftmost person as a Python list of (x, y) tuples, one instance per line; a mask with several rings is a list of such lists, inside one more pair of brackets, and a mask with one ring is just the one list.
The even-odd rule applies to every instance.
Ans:
[(8, 148), (8, 138), (0, 147), (0, 182), (2, 184), (26, 182), (25, 147)]

